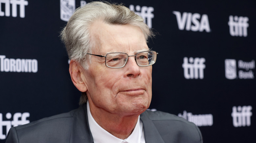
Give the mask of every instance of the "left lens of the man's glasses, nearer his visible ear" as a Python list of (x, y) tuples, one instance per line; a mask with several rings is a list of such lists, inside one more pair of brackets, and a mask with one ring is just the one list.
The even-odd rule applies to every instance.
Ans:
[(125, 53), (109, 53), (106, 55), (106, 66), (110, 68), (121, 68), (127, 62), (128, 55)]

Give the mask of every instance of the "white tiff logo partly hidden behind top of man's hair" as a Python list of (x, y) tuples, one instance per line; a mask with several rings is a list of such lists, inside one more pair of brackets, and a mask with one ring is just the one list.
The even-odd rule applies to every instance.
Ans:
[(129, 8), (130, 10), (134, 11), (134, 13), (141, 16), (144, 19), (144, 23), (146, 23), (149, 28), (152, 28), (152, 18), (154, 18), (154, 14), (152, 13), (154, 11), (153, 7), (146, 7), (146, 6), (140, 7), (137, 5), (134, 8), (134, 5), (130, 5)]

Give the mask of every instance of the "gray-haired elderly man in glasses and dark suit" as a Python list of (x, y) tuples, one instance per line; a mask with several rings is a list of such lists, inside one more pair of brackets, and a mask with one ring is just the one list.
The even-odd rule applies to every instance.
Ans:
[(7, 143), (202, 143), (195, 124), (146, 111), (158, 54), (147, 46), (152, 35), (124, 6), (92, 2), (78, 8), (61, 37), (81, 106), (13, 127)]

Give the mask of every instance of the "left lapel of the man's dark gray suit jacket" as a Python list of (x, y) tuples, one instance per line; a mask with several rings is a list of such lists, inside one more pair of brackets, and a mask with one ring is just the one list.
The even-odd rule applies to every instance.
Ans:
[(77, 112), (74, 113), (70, 143), (93, 143), (93, 136), (87, 118), (86, 104), (80, 106)]

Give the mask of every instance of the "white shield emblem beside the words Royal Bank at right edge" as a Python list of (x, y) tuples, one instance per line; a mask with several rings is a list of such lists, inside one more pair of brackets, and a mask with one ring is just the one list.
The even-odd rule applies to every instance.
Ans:
[(227, 79), (235, 79), (236, 74), (236, 60), (225, 59), (225, 76)]

